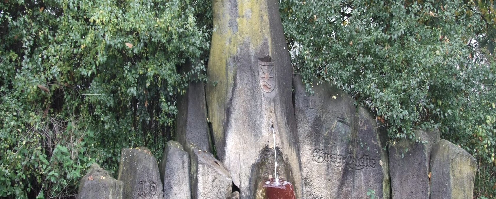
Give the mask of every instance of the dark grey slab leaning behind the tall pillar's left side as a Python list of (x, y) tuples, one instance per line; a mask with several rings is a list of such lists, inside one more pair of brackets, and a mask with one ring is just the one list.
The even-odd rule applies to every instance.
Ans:
[(186, 93), (179, 95), (177, 101), (176, 134), (178, 142), (182, 145), (192, 142), (202, 150), (212, 152), (203, 82), (189, 82)]

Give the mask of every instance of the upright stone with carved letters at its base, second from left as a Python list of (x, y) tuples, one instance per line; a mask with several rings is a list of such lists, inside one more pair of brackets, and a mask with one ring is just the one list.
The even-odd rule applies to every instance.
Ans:
[(124, 183), (123, 199), (163, 199), (157, 160), (146, 147), (123, 148), (119, 180)]

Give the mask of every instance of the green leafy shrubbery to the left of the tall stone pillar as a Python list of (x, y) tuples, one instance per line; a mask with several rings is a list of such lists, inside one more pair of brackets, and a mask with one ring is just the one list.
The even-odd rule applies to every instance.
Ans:
[(73, 197), (91, 163), (162, 151), (176, 94), (205, 78), (209, 3), (2, 0), (0, 198)]

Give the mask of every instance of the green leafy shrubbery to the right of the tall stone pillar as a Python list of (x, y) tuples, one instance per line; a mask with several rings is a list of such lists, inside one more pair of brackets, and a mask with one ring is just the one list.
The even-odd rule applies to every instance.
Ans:
[(496, 165), (496, 62), (487, 40), (496, 20), (484, 13), (492, 6), (280, 1), (292, 63), (308, 90), (315, 77), (330, 81), (373, 110), (391, 139), (437, 128), (489, 166)]

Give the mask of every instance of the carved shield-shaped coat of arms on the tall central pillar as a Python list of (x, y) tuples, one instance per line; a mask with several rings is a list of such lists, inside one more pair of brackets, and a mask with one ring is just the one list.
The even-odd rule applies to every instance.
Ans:
[(260, 76), (260, 88), (263, 92), (270, 93), (274, 90), (274, 63), (269, 56), (258, 60), (258, 73)]

